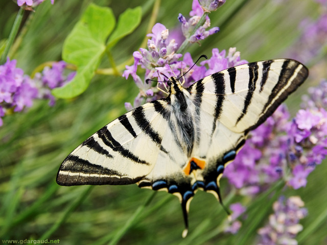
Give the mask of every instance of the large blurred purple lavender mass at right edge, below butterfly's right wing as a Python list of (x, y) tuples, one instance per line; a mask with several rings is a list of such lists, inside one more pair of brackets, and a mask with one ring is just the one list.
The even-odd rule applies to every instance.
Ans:
[[(224, 176), (241, 194), (256, 194), (278, 179), (294, 189), (304, 187), (307, 177), (327, 156), (327, 82), (309, 89), (306, 108), (295, 118), (280, 106), (250, 138), (229, 164)], [(320, 95), (320, 96), (319, 96)], [(285, 134), (286, 133), (286, 134)]]

